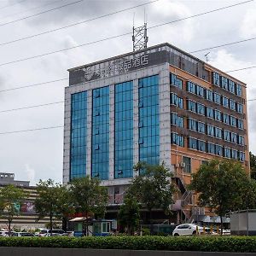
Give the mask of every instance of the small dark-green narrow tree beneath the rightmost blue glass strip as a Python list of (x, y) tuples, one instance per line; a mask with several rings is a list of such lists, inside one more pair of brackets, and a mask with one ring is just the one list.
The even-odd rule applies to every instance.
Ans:
[(118, 219), (119, 224), (127, 228), (128, 234), (134, 234), (140, 220), (140, 206), (135, 197), (130, 195), (125, 196), (124, 204), (119, 209)]

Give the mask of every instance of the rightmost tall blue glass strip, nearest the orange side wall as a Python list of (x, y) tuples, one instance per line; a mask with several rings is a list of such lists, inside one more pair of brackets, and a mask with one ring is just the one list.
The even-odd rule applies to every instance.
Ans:
[(138, 80), (139, 160), (150, 165), (160, 162), (159, 76)]

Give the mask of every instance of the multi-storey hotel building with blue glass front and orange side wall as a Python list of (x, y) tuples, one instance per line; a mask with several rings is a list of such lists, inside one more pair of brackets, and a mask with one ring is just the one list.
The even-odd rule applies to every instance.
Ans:
[(201, 163), (234, 159), (249, 172), (240, 80), (167, 43), (68, 71), (63, 183), (98, 177), (116, 206), (132, 166), (164, 162), (180, 190), (172, 206), (178, 222), (207, 214), (186, 189)]

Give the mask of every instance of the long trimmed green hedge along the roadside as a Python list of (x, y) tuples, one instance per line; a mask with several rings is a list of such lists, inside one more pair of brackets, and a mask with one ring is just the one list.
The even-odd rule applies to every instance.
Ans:
[(256, 236), (0, 237), (0, 247), (61, 247), (256, 253)]

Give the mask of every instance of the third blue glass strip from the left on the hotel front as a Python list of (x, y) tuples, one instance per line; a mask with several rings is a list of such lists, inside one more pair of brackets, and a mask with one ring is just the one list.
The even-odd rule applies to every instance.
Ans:
[(114, 178), (133, 176), (133, 83), (114, 89)]

